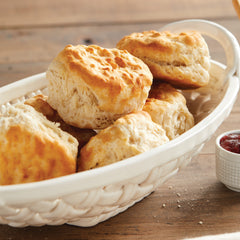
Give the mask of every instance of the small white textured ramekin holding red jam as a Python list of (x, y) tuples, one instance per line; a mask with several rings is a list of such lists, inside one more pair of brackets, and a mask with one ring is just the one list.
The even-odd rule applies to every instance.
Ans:
[(240, 192), (240, 154), (220, 146), (221, 138), (231, 133), (240, 133), (240, 130), (224, 132), (216, 139), (216, 175), (226, 187)]

